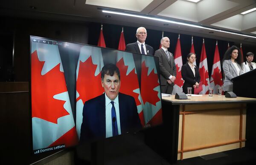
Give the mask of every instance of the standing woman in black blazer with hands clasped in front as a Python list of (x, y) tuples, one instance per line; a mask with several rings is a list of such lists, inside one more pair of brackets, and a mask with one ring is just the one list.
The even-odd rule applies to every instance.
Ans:
[(201, 79), (198, 67), (194, 65), (194, 62), (196, 60), (196, 54), (189, 53), (187, 56), (187, 60), (188, 62), (181, 67), (181, 76), (183, 80), (185, 80), (182, 88), (183, 92), (187, 94), (187, 88), (191, 87), (192, 94), (194, 94), (194, 88), (198, 88)]

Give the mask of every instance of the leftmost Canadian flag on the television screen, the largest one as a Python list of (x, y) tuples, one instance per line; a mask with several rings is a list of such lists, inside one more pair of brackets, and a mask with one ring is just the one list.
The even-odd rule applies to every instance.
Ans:
[(32, 42), (31, 101), (33, 150), (78, 143), (58, 46)]

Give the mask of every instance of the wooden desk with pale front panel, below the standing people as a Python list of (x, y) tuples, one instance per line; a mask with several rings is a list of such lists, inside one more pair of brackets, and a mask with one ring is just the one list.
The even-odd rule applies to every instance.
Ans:
[[(245, 146), (247, 104), (256, 99), (214, 94), (192, 95), (189, 100), (176, 100), (172, 95), (162, 100), (163, 114), (175, 112), (177, 119), (175, 123), (163, 120), (173, 134), (173, 162)], [(163, 115), (163, 119), (168, 116)]]

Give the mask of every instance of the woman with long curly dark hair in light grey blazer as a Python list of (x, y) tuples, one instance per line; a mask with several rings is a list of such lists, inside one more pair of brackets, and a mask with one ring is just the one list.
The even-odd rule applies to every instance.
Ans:
[(223, 91), (233, 91), (233, 82), (231, 79), (244, 73), (241, 67), (242, 57), (239, 48), (231, 46), (223, 56), (222, 68), (224, 71)]

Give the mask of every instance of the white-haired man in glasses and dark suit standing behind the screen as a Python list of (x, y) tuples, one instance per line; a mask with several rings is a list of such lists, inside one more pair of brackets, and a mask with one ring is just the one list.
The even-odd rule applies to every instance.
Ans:
[(147, 38), (147, 30), (144, 27), (137, 28), (136, 37), (137, 42), (127, 44), (125, 51), (153, 55), (154, 49), (151, 46), (145, 44), (145, 40)]

